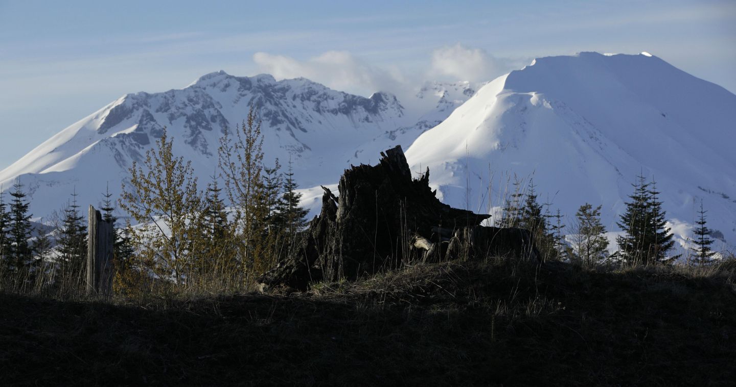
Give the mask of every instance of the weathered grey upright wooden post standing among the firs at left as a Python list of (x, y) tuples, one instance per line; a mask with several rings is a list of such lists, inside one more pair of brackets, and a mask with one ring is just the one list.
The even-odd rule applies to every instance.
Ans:
[(87, 230), (87, 294), (107, 296), (113, 287), (113, 223), (90, 206)]

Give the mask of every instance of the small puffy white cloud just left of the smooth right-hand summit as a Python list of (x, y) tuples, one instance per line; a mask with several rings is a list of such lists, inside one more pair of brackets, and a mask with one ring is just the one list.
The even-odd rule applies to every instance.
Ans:
[(456, 43), (432, 52), (428, 77), (452, 81), (484, 82), (520, 68), (518, 61), (494, 57), (481, 48)]

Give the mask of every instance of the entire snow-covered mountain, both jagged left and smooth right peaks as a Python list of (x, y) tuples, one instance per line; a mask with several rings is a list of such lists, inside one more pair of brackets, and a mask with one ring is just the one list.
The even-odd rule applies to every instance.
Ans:
[(204, 186), (219, 138), (251, 105), (263, 120), (266, 162), (291, 157), (302, 203), (316, 211), (319, 184), (400, 144), (411, 169), (429, 167), (453, 206), (498, 211), (515, 178), (533, 179), (565, 223), (589, 202), (617, 231), (643, 173), (657, 181), (681, 242), (702, 199), (714, 235), (736, 245), (736, 95), (646, 53), (539, 58), (487, 84), (428, 82), (405, 101), (307, 79), (210, 73), (181, 90), (124, 95), (0, 171), (0, 184), (7, 191), (19, 177), (35, 217), (62, 208), (74, 190), (82, 206), (99, 203), (108, 182), (118, 195), (127, 168), (166, 126)]

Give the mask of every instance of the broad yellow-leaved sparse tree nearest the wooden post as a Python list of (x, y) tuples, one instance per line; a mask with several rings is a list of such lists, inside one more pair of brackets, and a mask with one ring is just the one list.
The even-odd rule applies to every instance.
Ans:
[(130, 167), (130, 184), (123, 183), (118, 203), (142, 224), (131, 229), (141, 264), (180, 285), (196, 254), (202, 194), (191, 162), (174, 156), (172, 145), (164, 129), (156, 147), (146, 151), (144, 167)]

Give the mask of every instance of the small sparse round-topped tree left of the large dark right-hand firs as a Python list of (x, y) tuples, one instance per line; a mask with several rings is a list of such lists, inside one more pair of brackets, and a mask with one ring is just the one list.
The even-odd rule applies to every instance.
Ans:
[(606, 228), (601, 223), (601, 206), (585, 203), (575, 214), (577, 222), (575, 253), (584, 264), (592, 265), (605, 258), (608, 248)]

